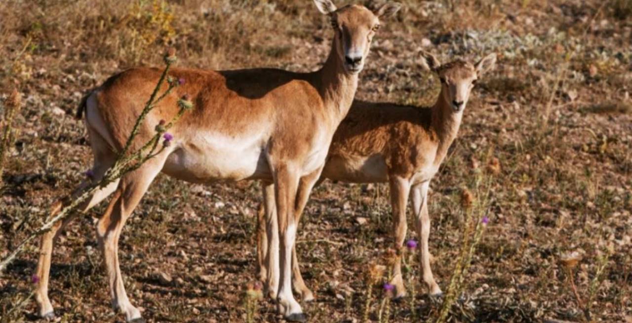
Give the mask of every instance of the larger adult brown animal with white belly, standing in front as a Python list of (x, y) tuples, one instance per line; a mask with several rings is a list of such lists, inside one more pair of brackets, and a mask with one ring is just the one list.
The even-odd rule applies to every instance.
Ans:
[[(371, 11), (358, 5), (337, 9), (331, 0), (313, 1), (320, 12), (331, 17), (335, 32), (329, 58), (321, 69), (312, 73), (173, 69), (171, 76), (186, 79), (186, 84), (178, 86), (152, 110), (131, 148), (147, 142), (159, 120), (169, 120), (176, 114), (176, 101), (185, 93), (192, 98), (195, 109), (171, 128), (174, 139), (168, 149), (98, 191), (83, 206), (87, 211), (114, 193), (97, 223), (97, 239), (104, 254), (112, 305), (125, 314), (128, 322), (142, 321), (142, 317), (125, 292), (118, 240), (125, 221), (160, 172), (188, 182), (258, 179), (274, 183), (281, 237), (277, 309), (287, 320), (305, 320), (291, 293), (296, 219), (307, 203), (308, 191), (320, 177), (334, 131), (351, 107), (358, 73), (380, 26), (379, 18), (399, 9), (398, 3), (391, 2)], [(134, 120), (160, 74), (151, 68), (124, 71), (92, 91), (80, 107), (85, 109), (95, 180), (112, 165), (116, 151), (125, 146)], [(299, 182), (305, 184), (305, 199), (296, 198)], [(59, 212), (67, 201), (59, 201), (52, 213)], [(36, 291), (42, 317), (54, 316), (47, 296), (51, 250), (54, 237), (68, 221), (58, 223), (42, 236)]]

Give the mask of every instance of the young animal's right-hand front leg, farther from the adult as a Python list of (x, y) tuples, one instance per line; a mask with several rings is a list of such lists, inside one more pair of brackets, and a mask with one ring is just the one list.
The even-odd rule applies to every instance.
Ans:
[(441, 295), (441, 288), (432, 276), (430, 269), (430, 252), (428, 252), (428, 237), (430, 236), (430, 217), (428, 216), (428, 186), (430, 182), (415, 185), (411, 191), (413, 209), (415, 211), (415, 229), (417, 237), (421, 240), (419, 249), (423, 281), (428, 286), (430, 295)]

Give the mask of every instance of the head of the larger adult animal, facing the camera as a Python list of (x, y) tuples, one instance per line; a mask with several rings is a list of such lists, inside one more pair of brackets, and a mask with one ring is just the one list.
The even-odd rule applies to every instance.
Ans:
[(313, 1), (321, 13), (331, 18), (338, 59), (350, 74), (360, 73), (364, 68), (371, 40), (380, 28), (380, 18), (392, 16), (401, 8), (399, 3), (387, 2), (373, 11), (356, 4), (337, 9), (331, 0)]

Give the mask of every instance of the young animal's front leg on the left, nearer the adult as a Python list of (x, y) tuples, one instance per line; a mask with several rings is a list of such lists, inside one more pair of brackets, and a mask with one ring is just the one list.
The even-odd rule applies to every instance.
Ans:
[(391, 177), (391, 208), (393, 218), (393, 238), (398, 259), (393, 267), (393, 278), (391, 284), (395, 286), (395, 298), (406, 296), (403, 277), (401, 274), (401, 254), (404, 239), (406, 238), (406, 204), (408, 203), (408, 192), (410, 192), (410, 182), (402, 177)]

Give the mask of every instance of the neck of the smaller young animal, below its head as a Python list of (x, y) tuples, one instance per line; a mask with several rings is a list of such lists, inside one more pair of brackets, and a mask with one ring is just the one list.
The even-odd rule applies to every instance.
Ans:
[[(444, 98), (443, 88), (439, 94), (439, 99), (432, 107), (432, 130), (437, 134), (437, 155), (435, 157), (435, 164), (439, 165), (443, 162), (443, 159), (447, 155), (447, 150), (453, 143), (456, 135), (459, 132), (461, 126), (461, 118), (463, 112), (455, 113), (452, 110), (450, 103), (446, 102)], [(463, 107), (465, 108), (465, 107)]]

